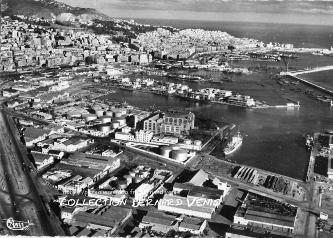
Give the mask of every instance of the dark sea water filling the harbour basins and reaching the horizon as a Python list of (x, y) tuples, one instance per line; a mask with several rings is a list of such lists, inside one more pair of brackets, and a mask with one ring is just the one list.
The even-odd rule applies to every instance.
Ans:
[[(291, 43), (295, 47), (329, 48), (333, 44), (333, 27), (306, 26), (291, 24), (210, 22), (210, 21), (178, 21), (136, 19), (142, 24), (168, 25), (177, 28), (202, 28), (204, 30), (220, 30), (236, 37), (249, 37), (263, 42)], [(295, 108), (242, 108), (232, 105), (212, 103), (211, 106), (199, 102), (183, 101), (179, 98), (157, 96), (150, 93), (133, 92), (117, 89), (116, 93), (106, 97), (109, 101), (126, 101), (132, 105), (167, 110), (170, 108), (190, 108), (196, 118), (210, 118), (221, 122), (239, 125), (243, 136), (242, 145), (232, 154), (223, 155), (226, 142), (220, 143), (212, 152), (218, 158), (231, 159), (237, 163), (280, 173), (296, 179), (304, 179), (310, 153), (305, 149), (305, 135), (333, 129), (333, 107), (329, 103), (319, 102), (312, 95), (325, 95), (314, 90), (312, 95), (295, 92), (291, 88), (313, 89), (307, 85), (282, 86), (272, 79), (271, 73), (279, 73), (281, 69), (298, 70), (306, 67), (326, 66), (333, 64), (333, 57), (298, 53), (300, 59), (288, 59), (280, 62), (239, 61), (233, 62), (235, 67), (256, 67), (258, 72), (249, 75), (221, 75), (221, 73), (199, 70), (182, 71), (182, 73), (201, 75), (202, 77), (232, 77), (235, 81), (223, 81), (222, 84), (210, 82), (189, 82), (171, 80), (165, 77), (150, 76), (163, 82), (174, 82), (189, 85), (190, 88), (214, 87), (231, 90), (233, 93), (250, 95), (255, 100), (265, 101), (270, 105), (285, 105), (299, 102)], [(332, 87), (332, 70), (308, 74), (308, 80), (320, 82)], [(130, 78), (142, 78), (133, 74)], [(290, 82), (292, 80), (288, 79)], [(101, 98), (102, 99), (102, 98)], [(236, 127), (238, 128), (238, 126)], [(236, 130), (233, 131), (233, 135)]]

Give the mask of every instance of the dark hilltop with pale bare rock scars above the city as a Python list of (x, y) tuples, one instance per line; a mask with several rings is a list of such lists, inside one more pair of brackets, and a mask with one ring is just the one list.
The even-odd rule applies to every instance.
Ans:
[(72, 7), (55, 0), (2, 0), (1, 12), (6, 15), (55, 18), (59, 21), (114, 20), (95, 9)]

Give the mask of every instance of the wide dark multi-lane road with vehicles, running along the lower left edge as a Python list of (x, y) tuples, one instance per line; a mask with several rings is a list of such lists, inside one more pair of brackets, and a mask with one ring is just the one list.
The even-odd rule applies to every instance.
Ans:
[(35, 224), (30, 226), (30, 230), (12, 232), (13, 235), (64, 235), (64, 231), (59, 230), (59, 221), (50, 219), (46, 213), (40, 199), (43, 189), (36, 172), (31, 173), (27, 168), (33, 165), (28, 159), (26, 148), (19, 140), (14, 121), (3, 109), (0, 109), (0, 120), (1, 218), (12, 217), (16, 221), (29, 220)]

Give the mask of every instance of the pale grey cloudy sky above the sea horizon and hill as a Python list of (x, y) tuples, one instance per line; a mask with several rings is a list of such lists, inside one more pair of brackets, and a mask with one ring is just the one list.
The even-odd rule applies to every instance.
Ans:
[(333, 25), (333, 0), (58, 0), (114, 18)]

